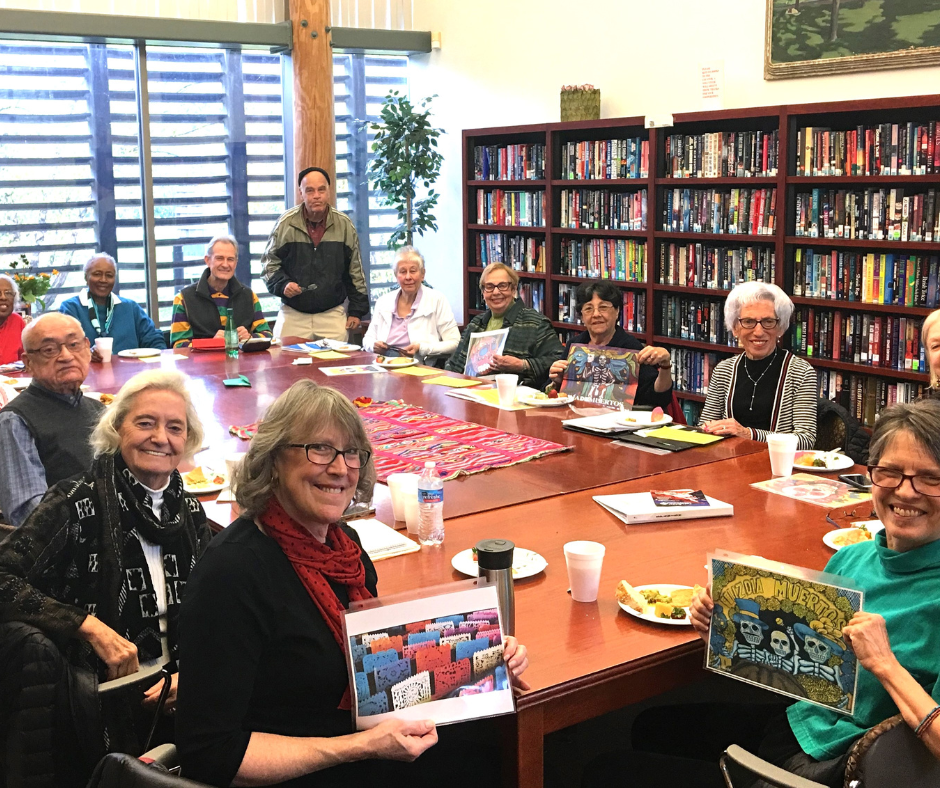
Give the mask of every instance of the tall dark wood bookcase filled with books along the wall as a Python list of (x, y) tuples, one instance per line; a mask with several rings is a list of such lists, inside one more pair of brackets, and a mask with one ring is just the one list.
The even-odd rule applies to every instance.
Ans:
[[(608, 172), (610, 140), (637, 141), (646, 168)], [(479, 148), (534, 144), (544, 146), (538, 178), (478, 177)], [(623, 149), (611, 150), (617, 160)], [(605, 166), (577, 169), (592, 153)], [(722, 306), (747, 278), (790, 294), (784, 346), (816, 368), (821, 395), (864, 423), (928, 383), (919, 330), (940, 301), (940, 96), (683, 113), (653, 130), (641, 117), (471, 129), (463, 161), (468, 316), (483, 306), (481, 239), (517, 235), (491, 246), (529, 250), (504, 262), (523, 269), (561, 336), (581, 330), (566, 293), (610, 278), (631, 304), (622, 325), (670, 349), (689, 403), (737, 352)], [(494, 188), (539, 194), (541, 223), (478, 221), (479, 193)], [(544, 244), (534, 264), (533, 243)]]

